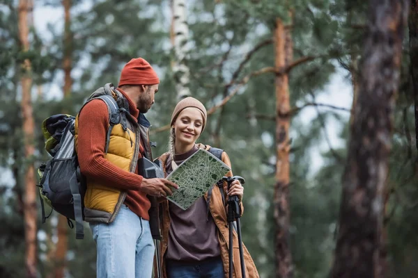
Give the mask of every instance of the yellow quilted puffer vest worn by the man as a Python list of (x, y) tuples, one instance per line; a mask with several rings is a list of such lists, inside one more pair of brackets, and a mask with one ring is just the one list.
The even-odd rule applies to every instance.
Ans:
[[(104, 88), (98, 89), (89, 98), (102, 95)], [(87, 102), (88, 102), (87, 101)], [(81, 111), (80, 111), (81, 112)], [(123, 170), (134, 172), (139, 156), (139, 124), (125, 121), (127, 130), (121, 123), (115, 124), (108, 137), (109, 147), (104, 158)], [(75, 118), (75, 148), (77, 149), (79, 115)], [(145, 141), (145, 142), (148, 142)], [(84, 195), (84, 220), (86, 222), (112, 222), (116, 217), (127, 193), (111, 188), (86, 177), (86, 194)]]

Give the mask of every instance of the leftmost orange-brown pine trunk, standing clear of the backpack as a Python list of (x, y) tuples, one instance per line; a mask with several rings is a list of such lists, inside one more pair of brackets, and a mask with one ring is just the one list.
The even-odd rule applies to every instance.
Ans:
[[(29, 20), (33, 9), (31, 0), (19, 2), (19, 38), (22, 52), (29, 50)], [(26, 171), (24, 176), (24, 224), (26, 241), (26, 272), (28, 277), (36, 277), (36, 182), (33, 168), (33, 109), (31, 104), (31, 61), (26, 59), (22, 63), (22, 123), (24, 134), (24, 156)]]

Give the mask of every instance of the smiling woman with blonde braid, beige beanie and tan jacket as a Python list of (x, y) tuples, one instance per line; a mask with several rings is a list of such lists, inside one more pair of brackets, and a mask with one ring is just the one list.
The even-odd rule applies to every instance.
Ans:
[[(196, 144), (206, 124), (206, 108), (200, 101), (187, 97), (180, 101), (171, 116), (169, 152), (160, 156), (165, 175), (185, 159), (210, 146)], [(173, 159), (174, 158), (174, 159)], [(222, 161), (231, 167), (226, 152)], [(227, 176), (232, 176), (230, 171)], [(209, 204), (208, 193), (183, 211), (172, 202), (162, 202), (162, 244), (160, 254), (163, 277), (229, 278), (229, 228), (226, 208), (218, 186), (212, 187)], [(224, 195), (237, 195), (241, 200), (244, 188), (239, 181), (231, 183)], [(242, 206), (242, 204), (240, 203)], [(209, 206), (209, 207), (208, 207)], [(241, 207), (242, 208), (242, 207)], [(246, 277), (258, 277), (254, 261), (244, 246)], [(242, 277), (240, 270), (238, 237), (233, 231), (233, 277)]]

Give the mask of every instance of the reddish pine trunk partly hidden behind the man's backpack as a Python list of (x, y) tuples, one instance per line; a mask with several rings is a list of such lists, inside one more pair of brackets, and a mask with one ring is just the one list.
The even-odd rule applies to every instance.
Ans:
[[(71, 17), (70, 17), (70, 8), (72, 5), (72, 0), (63, 0), (64, 6), (64, 40), (63, 40), (63, 70), (64, 70), (64, 97), (69, 97), (71, 94), (72, 79), (71, 79), (71, 70), (72, 70), (72, 32), (71, 32)], [(68, 111), (64, 111), (68, 113)], [(58, 216), (58, 242), (56, 243), (56, 253), (54, 258), (54, 277), (63, 278), (67, 261), (65, 256), (67, 255), (67, 245), (68, 245), (68, 227), (67, 227), (67, 218), (64, 215)]]

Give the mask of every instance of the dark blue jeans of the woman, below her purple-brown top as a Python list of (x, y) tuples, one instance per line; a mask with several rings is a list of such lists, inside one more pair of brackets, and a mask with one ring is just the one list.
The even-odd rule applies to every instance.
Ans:
[(222, 278), (224, 263), (220, 256), (196, 262), (167, 260), (169, 278)]

